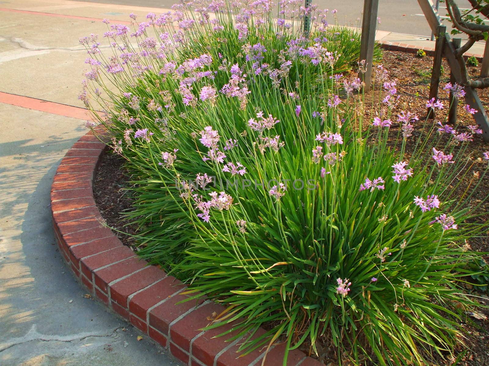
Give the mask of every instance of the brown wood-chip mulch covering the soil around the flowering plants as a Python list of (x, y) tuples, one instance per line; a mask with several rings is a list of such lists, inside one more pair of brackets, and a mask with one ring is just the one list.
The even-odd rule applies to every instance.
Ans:
[[(382, 64), (389, 71), (391, 78), (397, 79), (397, 90), (401, 96), (400, 109), (414, 112), (420, 118), (420, 124), (426, 117), (425, 102), (429, 95), (429, 84), (431, 79), (431, 67), (433, 59), (431, 57), (419, 58), (413, 54), (384, 51)], [(443, 90), (443, 86), (449, 81), (450, 69), (448, 63), (444, 60), (444, 70), (442, 72), (441, 85), (438, 98), (444, 102), (446, 109), (449, 101), (448, 94)], [(470, 75), (475, 76), (479, 72), (479, 67), (467, 67)], [(489, 111), (489, 89), (479, 90), (479, 97)], [(367, 98), (366, 98), (367, 99)], [(465, 103), (460, 102), (458, 113), (458, 124), (453, 126), (455, 129), (464, 130), (464, 126), (475, 124), (474, 121), (467, 117), (467, 114), (461, 109)], [(400, 110), (399, 109), (399, 110)], [(446, 111), (444, 113), (437, 112), (437, 118), (444, 121)], [(393, 121), (397, 120), (393, 118)], [(438, 121), (435, 119), (435, 121)], [(474, 138), (469, 145), (470, 152), (473, 153), (474, 159), (482, 156), (482, 152), (489, 150), (489, 144), (485, 144), (480, 136)], [(122, 215), (123, 212), (130, 210), (132, 198), (127, 188), (130, 175), (124, 168), (124, 159), (108, 153), (104, 156), (93, 185), (95, 202), (97, 203), (102, 216), (111, 228), (120, 230), (116, 232), (119, 239), (125, 244), (131, 246), (137, 251), (136, 240), (133, 235), (137, 235), (137, 227), (128, 222)], [(474, 163), (471, 167), (473, 172), (478, 170), (483, 171), (487, 162)], [(475, 194), (476, 199), (483, 200), (489, 194), (489, 178), (479, 186), (478, 192)], [(487, 215), (483, 220), (489, 219), (489, 203), (481, 208), (481, 212), (486, 212)], [(127, 234), (126, 234), (127, 233)], [(489, 234), (489, 233), (486, 233)], [(470, 241), (470, 247), (473, 250), (481, 252), (489, 252), (489, 237), (488, 235), (482, 238), (475, 238)], [(489, 257), (484, 256), (489, 262)], [(466, 285), (467, 291), (474, 296), (481, 297), (481, 302), (489, 305), (488, 292), (477, 291), (470, 284)], [(489, 317), (489, 311), (480, 311), (481, 315)], [(468, 331), (466, 346), (459, 347), (459, 351), (467, 350), (467, 353), (462, 357), (457, 365), (464, 366), (489, 366), (489, 320), (475, 319), (467, 315), (465, 327)], [(327, 345), (324, 345), (326, 348)], [(332, 359), (322, 359), (326, 364), (335, 365)], [(436, 360), (439, 365), (452, 365), (455, 360)], [(435, 365), (435, 364), (433, 364)]]

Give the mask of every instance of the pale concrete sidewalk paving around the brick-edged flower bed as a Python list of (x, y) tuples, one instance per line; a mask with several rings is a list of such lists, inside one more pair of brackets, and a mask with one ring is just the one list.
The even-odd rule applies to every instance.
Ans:
[[(103, 34), (103, 18), (127, 21), (131, 12), (144, 18), (164, 11), (1, 1), (0, 92), (81, 107), (77, 94), (87, 54), (79, 37)], [(418, 36), (379, 31), (377, 38), (434, 47)], [(85, 298), (54, 245), (52, 177), (66, 150), (86, 133), (85, 122), (15, 104), (2, 103), (0, 96), (0, 365), (180, 365), (147, 337), (137, 341), (132, 326)]]

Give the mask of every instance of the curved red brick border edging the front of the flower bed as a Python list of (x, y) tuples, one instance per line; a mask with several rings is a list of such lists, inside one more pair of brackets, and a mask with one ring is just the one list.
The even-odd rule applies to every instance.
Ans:
[[(97, 134), (106, 135), (97, 127)], [(255, 350), (236, 359), (241, 340), (212, 337), (229, 329), (200, 331), (213, 313), (224, 307), (211, 301), (178, 304), (186, 288), (163, 270), (138, 259), (134, 252), (100, 224), (92, 182), (106, 145), (92, 132), (68, 150), (51, 187), (51, 211), (56, 240), (75, 277), (89, 292), (131, 322), (159, 345), (169, 348), (179, 360), (191, 366), (261, 365), (263, 352)], [(263, 334), (260, 329), (255, 336)], [(282, 366), (285, 344), (273, 346), (267, 366)], [(322, 366), (303, 352), (289, 353), (289, 366)]]

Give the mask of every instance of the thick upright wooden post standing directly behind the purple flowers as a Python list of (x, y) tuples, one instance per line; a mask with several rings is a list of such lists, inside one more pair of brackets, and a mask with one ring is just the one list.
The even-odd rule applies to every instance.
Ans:
[(377, 28), (378, 0), (364, 0), (360, 61), (365, 60), (366, 72), (359, 72), (358, 77), (365, 83), (365, 90), (370, 90), (372, 83), (372, 62), (374, 61), (375, 32)]

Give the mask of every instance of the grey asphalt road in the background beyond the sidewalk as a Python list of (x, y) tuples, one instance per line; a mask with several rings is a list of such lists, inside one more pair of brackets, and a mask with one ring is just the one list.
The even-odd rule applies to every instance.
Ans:
[[(84, 1), (84, 0), (75, 0)], [(90, 2), (98, 2), (105, 4), (119, 5), (137, 5), (147, 7), (169, 8), (177, 2), (176, 0), (92, 0)], [(277, 2), (276, 0), (274, 2)], [(435, 2), (435, 0), (433, 0)], [(470, 4), (467, 0), (456, 0), (459, 7), (469, 8)], [(313, 0), (320, 8), (336, 9), (338, 13), (338, 22), (340, 24), (350, 25), (355, 24), (361, 19), (363, 11), (363, 0)], [(446, 14), (444, 11), (445, 3), (440, 4), (440, 14)], [(117, 8), (114, 7), (114, 11)], [(419, 36), (430, 37), (431, 30), (428, 23), (422, 14), (422, 10), (417, 0), (379, 0), (378, 17), (380, 18), (379, 30), (413, 34)], [(449, 23), (445, 22), (447, 27)]]

